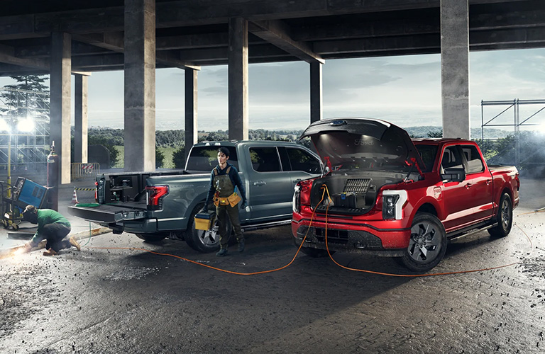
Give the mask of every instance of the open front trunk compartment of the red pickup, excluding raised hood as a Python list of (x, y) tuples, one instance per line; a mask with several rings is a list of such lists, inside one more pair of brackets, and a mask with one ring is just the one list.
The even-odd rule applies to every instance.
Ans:
[[(382, 185), (400, 183), (404, 177), (402, 173), (330, 173), (314, 180), (310, 202), (316, 212), (362, 215), (373, 209)], [(327, 191), (322, 200), (323, 185)]]

